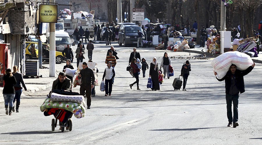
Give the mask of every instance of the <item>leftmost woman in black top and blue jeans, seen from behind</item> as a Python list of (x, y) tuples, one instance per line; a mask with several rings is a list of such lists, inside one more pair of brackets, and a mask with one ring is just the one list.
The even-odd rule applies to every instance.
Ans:
[(14, 85), (16, 84), (16, 79), (12, 75), (10, 68), (6, 69), (5, 75), (3, 76), (3, 81), (5, 81), (5, 86), (3, 88), (3, 97), (5, 99), (6, 115), (8, 115), (8, 103), (9, 115), (12, 115), (13, 99), (15, 97)]

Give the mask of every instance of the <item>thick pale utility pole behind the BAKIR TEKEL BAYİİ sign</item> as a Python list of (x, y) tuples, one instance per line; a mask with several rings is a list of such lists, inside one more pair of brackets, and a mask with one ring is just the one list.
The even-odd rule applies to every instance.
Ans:
[[(50, 0), (55, 3), (55, 0)], [(56, 41), (55, 41), (55, 23), (49, 23), (50, 38), (49, 38), (49, 77), (56, 77)]]

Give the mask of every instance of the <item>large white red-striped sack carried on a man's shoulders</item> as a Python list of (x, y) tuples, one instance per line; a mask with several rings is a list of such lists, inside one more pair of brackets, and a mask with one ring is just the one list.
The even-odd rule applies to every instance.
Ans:
[(235, 64), (238, 70), (245, 70), (253, 65), (253, 61), (251, 57), (245, 53), (229, 51), (219, 55), (211, 62), (214, 72), (217, 72), (216, 77), (218, 79), (222, 79), (226, 75), (231, 64)]

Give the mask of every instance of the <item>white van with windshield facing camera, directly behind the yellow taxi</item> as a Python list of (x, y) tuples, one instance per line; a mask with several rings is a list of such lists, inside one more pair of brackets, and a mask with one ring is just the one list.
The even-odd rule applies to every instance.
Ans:
[[(62, 52), (66, 48), (67, 44), (69, 44), (70, 47), (72, 47), (71, 40), (67, 32), (55, 31), (55, 35), (56, 35), (56, 51)], [(50, 33), (49, 32), (46, 33), (46, 39), (48, 41), (48, 44), (50, 44), (49, 42)]]

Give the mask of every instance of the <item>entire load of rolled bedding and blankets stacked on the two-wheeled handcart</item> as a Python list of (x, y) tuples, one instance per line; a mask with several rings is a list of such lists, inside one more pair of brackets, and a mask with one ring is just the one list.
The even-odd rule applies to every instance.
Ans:
[(76, 118), (85, 117), (85, 100), (82, 95), (60, 95), (51, 93), (44, 103), (40, 106), (40, 110), (45, 116), (54, 115), (59, 121), (66, 122), (72, 114)]

